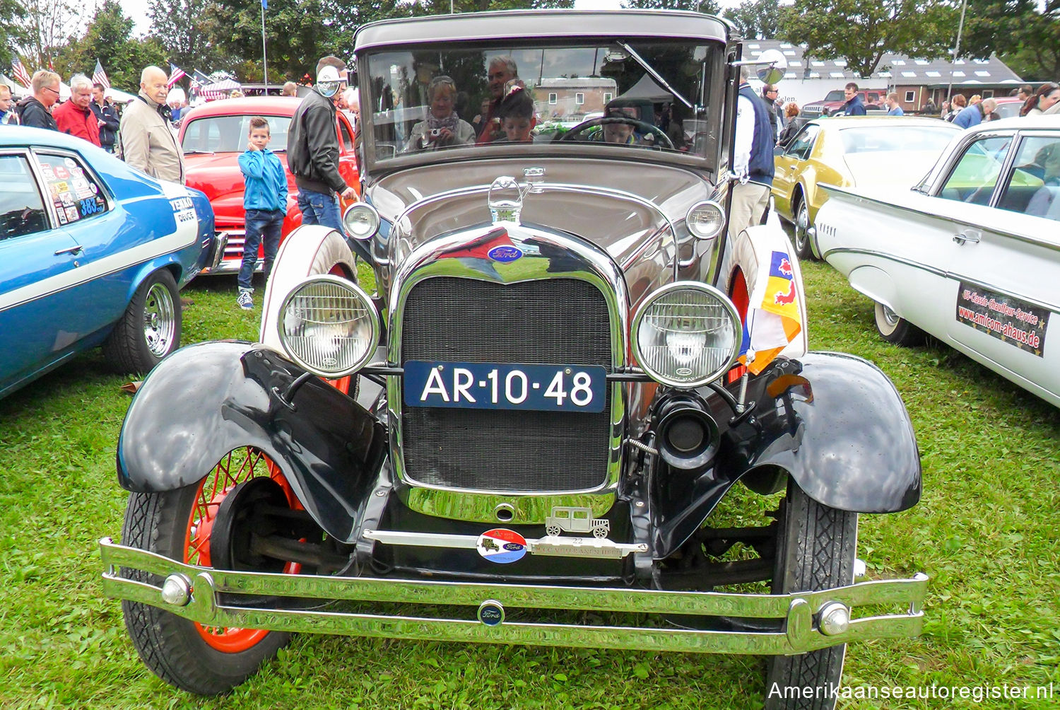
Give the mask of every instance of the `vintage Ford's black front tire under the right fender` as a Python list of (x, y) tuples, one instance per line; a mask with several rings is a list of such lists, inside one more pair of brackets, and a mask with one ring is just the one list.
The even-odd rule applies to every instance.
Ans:
[[(856, 513), (816, 502), (792, 480), (778, 531), (774, 594), (829, 589), (853, 582)], [(846, 644), (841, 644), (799, 656), (771, 656), (765, 673), (765, 710), (831, 710), (835, 697), (828, 691), (836, 688), (843, 677), (846, 650)], [(813, 697), (793, 693), (807, 687), (822, 690), (812, 693)]]

